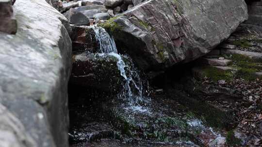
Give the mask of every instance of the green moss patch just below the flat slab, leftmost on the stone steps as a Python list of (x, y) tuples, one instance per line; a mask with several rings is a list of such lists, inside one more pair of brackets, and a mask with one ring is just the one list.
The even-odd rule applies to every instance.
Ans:
[(233, 78), (233, 73), (231, 70), (221, 70), (213, 66), (205, 66), (202, 67), (201, 71), (203, 71), (203, 77), (209, 77), (214, 82), (217, 82), (218, 80), (227, 80), (231, 81)]

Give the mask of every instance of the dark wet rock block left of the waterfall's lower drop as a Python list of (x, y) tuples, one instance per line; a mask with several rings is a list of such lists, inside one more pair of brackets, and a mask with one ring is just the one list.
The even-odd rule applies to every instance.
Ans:
[[(122, 88), (123, 77), (117, 68), (117, 61), (111, 55), (76, 53), (70, 84), (117, 93)], [(107, 76), (105, 76), (107, 75)]]

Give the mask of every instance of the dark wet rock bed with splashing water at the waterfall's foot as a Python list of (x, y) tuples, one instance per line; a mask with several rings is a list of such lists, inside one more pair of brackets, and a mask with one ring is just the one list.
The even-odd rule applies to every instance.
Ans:
[[(96, 96), (100, 97), (98, 93)], [(80, 135), (84, 139), (78, 144), (72, 141), (71, 147), (218, 147), (219, 141), (225, 144), (225, 137), (205, 127), (187, 107), (165, 97), (155, 94), (136, 110), (123, 105), (125, 100), (119, 98), (91, 100), (89, 106), (82, 105), (82, 112), (72, 112), (77, 124), (71, 126), (71, 132), (79, 134), (72, 135), (72, 139), (81, 138)], [(74, 108), (76, 105), (70, 110)]]

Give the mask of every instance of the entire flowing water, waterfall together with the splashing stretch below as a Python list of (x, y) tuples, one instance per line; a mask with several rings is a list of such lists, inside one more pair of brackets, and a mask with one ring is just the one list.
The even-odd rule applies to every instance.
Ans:
[[(147, 88), (143, 88), (143, 80), (132, 60), (117, 53), (114, 38), (105, 29), (90, 28), (99, 44), (98, 56), (117, 59), (117, 68), (124, 79), (123, 88), (113, 101), (91, 102), (90, 99), (92, 104), (87, 106), (78, 102), (76, 106), (71, 104), (70, 116), (74, 117), (70, 121), (74, 124), (69, 133), (70, 147), (199, 147), (197, 145), (207, 144), (224, 147), (225, 137), (187, 114), (188, 108), (166, 98), (165, 94), (151, 95), (148, 101), (143, 95)], [(90, 95), (85, 98), (97, 95), (93, 92), (88, 91)], [(103, 96), (98, 94), (97, 97)], [(119, 135), (119, 131), (136, 134), (139, 139)]]

